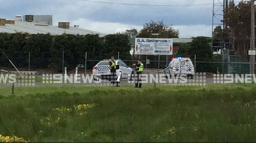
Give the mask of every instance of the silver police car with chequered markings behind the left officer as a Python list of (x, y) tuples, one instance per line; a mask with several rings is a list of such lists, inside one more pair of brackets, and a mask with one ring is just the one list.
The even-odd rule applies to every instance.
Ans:
[[(117, 70), (116, 73), (117, 75), (121, 75), (121, 79), (132, 79), (133, 69), (128, 67), (123, 61), (121, 60), (115, 60)], [(100, 61), (96, 66), (93, 67), (93, 77), (94, 80), (98, 80), (99, 78), (101, 79), (110, 79), (111, 72), (110, 72), (110, 61), (109, 60), (103, 60)]]

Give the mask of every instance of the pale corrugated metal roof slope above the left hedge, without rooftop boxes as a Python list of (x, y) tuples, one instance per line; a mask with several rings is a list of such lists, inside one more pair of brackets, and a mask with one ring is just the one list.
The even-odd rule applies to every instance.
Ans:
[(87, 35), (87, 34), (99, 34), (99, 37), (103, 37), (106, 34), (90, 31), (78, 27), (70, 27), (69, 29), (59, 28), (57, 26), (47, 25), (34, 25), (32, 23), (21, 22), (18, 24), (6, 24), (0, 26), (0, 33), (29, 33), (29, 34), (51, 34), (51, 35), (62, 35), (62, 34), (73, 34), (73, 35)]

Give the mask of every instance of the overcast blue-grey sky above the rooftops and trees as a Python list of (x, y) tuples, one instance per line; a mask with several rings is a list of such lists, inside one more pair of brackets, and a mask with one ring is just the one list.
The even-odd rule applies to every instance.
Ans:
[(163, 20), (179, 30), (180, 37), (189, 38), (211, 35), (212, 0), (0, 0), (0, 18), (14, 19), (17, 14), (53, 15), (54, 25), (58, 21), (69, 21), (71, 25), (106, 34), (129, 28), (140, 30), (146, 22)]

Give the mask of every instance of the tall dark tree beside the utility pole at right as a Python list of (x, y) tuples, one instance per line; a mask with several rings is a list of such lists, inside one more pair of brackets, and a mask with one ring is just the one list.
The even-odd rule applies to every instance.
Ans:
[(242, 61), (248, 59), (247, 51), (250, 47), (250, 5), (246, 1), (238, 5), (230, 3), (224, 14), (228, 28), (223, 30), (218, 26), (214, 31), (214, 38), (229, 41)]

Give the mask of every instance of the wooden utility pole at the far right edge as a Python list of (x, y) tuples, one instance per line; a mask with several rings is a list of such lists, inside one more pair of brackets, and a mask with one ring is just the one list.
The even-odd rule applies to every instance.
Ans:
[[(254, 0), (251, 0), (251, 40), (250, 49), (255, 50), (255, 13)], [(254, 74), (255, 55), (250, 55), (250, 74)]]

